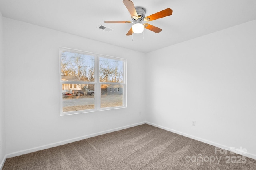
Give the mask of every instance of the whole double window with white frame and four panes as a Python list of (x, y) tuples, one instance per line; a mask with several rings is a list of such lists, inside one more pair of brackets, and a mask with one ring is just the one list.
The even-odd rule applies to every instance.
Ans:
[(125, 59), (60, 48), (60, 115), (126, 107), (125, 71)]

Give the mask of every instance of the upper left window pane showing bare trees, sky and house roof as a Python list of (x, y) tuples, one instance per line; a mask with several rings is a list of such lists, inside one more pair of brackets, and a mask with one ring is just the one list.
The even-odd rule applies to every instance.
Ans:
[(94, 56), (61, 51), (61, 75), (68, 76), (62, 81), (94, 82)]

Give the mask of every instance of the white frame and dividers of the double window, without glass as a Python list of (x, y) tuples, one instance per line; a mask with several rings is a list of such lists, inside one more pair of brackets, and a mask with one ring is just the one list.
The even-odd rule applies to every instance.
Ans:
[[(95, 57), (95, 80), (94, 82), (71, 82), (72, 84), (94, 84), (95, 88), (95, 96), (94, 96), (94, 109), (89, 109), (89, 110), (80, 110), (80, 111), (70, 111), (70, 112), (63, 112), (63, 97), (62, 97), (62, 84), (66, 84), (67, 82), (61, 81), (61, 51), (69, 51), (69, 52), (74, 52), (74, 53), (82, 53), (86, 55), (92, 55)], [(123, 61), (123, 82), (122, 83), (112, 83), (112, 82), (100, 82), (99, 80), (99, 58), (104, 57), (104, 58), (109, 58), (109, 59), (115, 59), (115, 60), (120, 60)], [(88, 113), (88, 112), (95, 112), (95, 111), (104, 111), (104, 110), (112, 110), (112, 109), (120, 109), (120, 108), (126, 108), (127, 107), (127, 90), (126, 90), (126, 59), (120, 58), (120, 57), (112, 57), (108, 55), (102, 55), (102, 54), (97, 54), (97, 53), (91, 53), (87, 51), (81, 51), (81, 50), (76, 50), (76, 49), (70, 49), (66, 47), (60, 47), (59, 49), (59, 75), (60, 75), (60, 115), (73, 115), (73, 114), (80, 114), (80, 113)], [(123, 106), (116, 106), (116, 107), (104, 107), (100, 108), (100, 99), (101, 99), (101, 85), (102, 84), (118, 84), (123, 86)]]

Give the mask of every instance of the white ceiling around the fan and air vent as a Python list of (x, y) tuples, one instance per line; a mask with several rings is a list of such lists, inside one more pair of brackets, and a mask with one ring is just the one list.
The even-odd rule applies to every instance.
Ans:
[[(256, 20), (256, 0), (133, 0), (144, 7), (146, 16), (171, 8), (171, 16), (148, 22), (162, 29), (160, 33), (144, 30), (144, 39), (132, 41), (126, 33), (132, 21), (122, 0), (0, 0), (2, 15), (94, 39), (104, 43), (148, 53), (182, 41), (213, 33), (234, 25)], [(110, 32), (98, 29), (110, 27)]]

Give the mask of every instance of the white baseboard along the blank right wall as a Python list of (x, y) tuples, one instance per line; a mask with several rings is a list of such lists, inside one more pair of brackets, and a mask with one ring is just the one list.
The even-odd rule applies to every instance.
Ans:
[[(156, 124), (154, 124), (154, 123), (150, 123), (150, 122), (147, 122), (147, 121), (146, 121), (146, 124), (152, 125), (152, 126), (155, 126), (155, 127), (160, 128), (160, 129), (164, 129), (164, 130), (166, 130), (166, 131), (170, 131), (170, 132), (173, 132), (173, 133), (176, 133), (176, 134), (179, 134), (179, 135), (182, 135), (182, 136), (191, 138), (191, 139), (195, 139), (195, 140), (197, 140), (197, 141), (204, 142), (204, 143), (207, 143), (207, 144), (209, 144), (209, 145), (213, 145), (213, 146), (218, 147), (218, 148), (221, 148), (221, 149), (226, 149), (226, 150), (227, 150), (227, 149), (228, 149), (228, 150), (231, 149), (231, 147), (228, 147), (228, 146), (225, 146), (225, 145), (222, 145), (222, 144), (219, 144), (219, 143), (215, 143), (215, 142), (212, 142), (212, 141), (208, 141), (208, 140), (206, 140), (206, 139), (202, 139), (202, 138), (200, 138), (200, 137), (196, 137), (196, 136), (193, 136), (193, 135), (189, 135), (189, 134), (186, 134), (186, 133), (183, 133), (183, 132), (180, 132), (180, 131), (176, 131), (176, 130), (174, 130), (174, 129), (170, 129), (170, 128), (167, 128), (167, 127), (164, 127), (164, 126), (156, 125)], [(245, 154), (242, 154), (242, 153), (241, 153), (240, 155), (246, 156), (246, 157), (248, 157), (248, 158), (252, 158), (252, 159), (255, 159), (255, 160), (256, 160), (256, 154), (252, 154), (252, 153), (246, 152)]]

